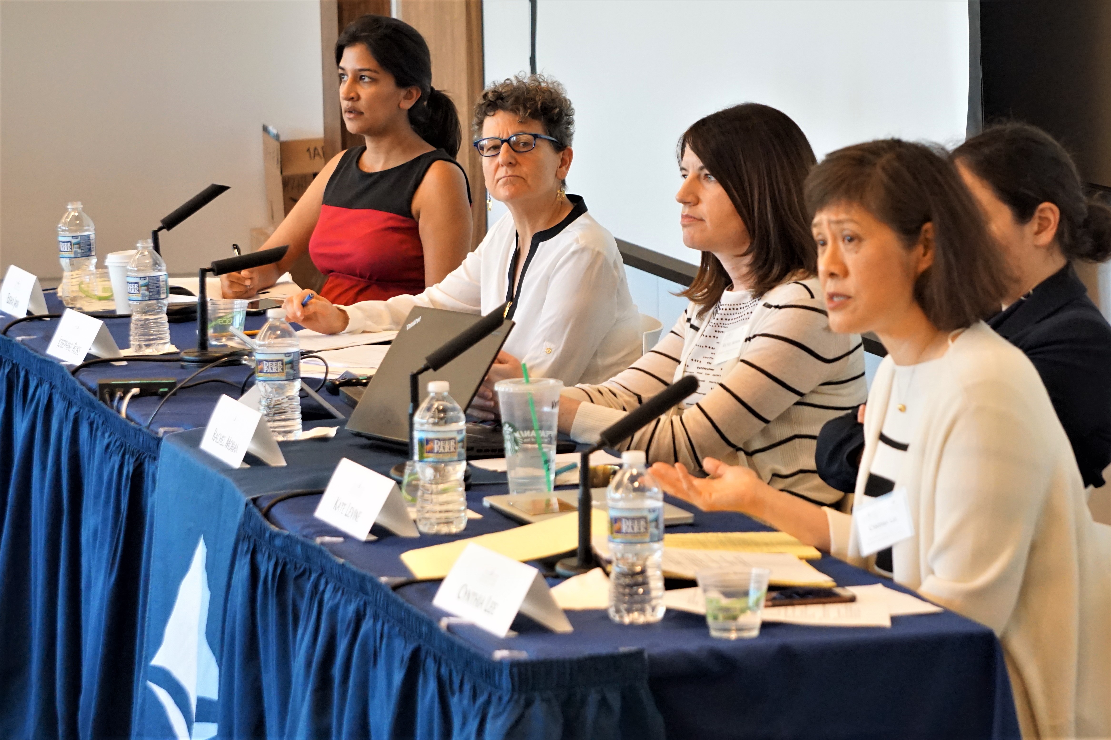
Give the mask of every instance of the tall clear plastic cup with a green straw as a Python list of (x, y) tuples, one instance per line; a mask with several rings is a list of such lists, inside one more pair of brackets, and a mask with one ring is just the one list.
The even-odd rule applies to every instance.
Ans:
[[(512, 494), (552, 490), (556, 483), (556, 435), (562, 381), (534, 377), (498, 381), (506, 440), (506, 474)], [(531, 401), (531, 404), (530, 404)]]

